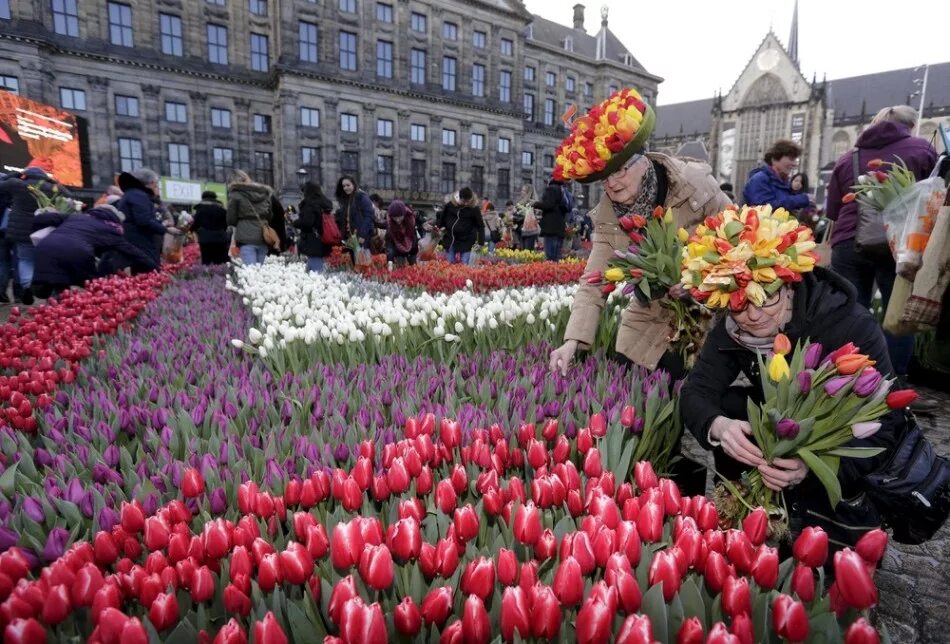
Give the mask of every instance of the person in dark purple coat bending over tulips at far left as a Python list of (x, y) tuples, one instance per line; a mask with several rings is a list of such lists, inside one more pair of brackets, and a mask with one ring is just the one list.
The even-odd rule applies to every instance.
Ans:
[(142, 272), (158, 268), (157, 261), (124, 236), (122, 212), (101, 205), (87, 213), (64, 215), (44, 213), (33, 218), (33, 229), (53, 226), (52, 231), (36, 247), (33, 291), (37, 297), (48, 298), (70, 286), (82, 286), (87, 280), (100, 277), (96, 258), (110, 253), (111, 269), (132, 266)]

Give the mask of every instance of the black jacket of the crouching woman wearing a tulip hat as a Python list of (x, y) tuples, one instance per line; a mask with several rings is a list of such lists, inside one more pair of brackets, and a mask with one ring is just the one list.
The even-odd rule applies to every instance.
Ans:
[[(853, 342), (876, 361), (875, 367), (882, 374), (893, 376), (881, 327), (867, 309), (857, 303), (854, 287), (849, 282), (831, 271), (816, 268), (794, 286), (794, 293), (792, 319), (784, 330), (792, 346), (807, 338), (820, 342), (825, 351), (830, 352)], [(753, 383), (752, 398), (760, 402), (762, 391), (757, 384), (760, 376), (756, 355), (732, 339), (723, 318), (706, 339), (680, 398), (683, 422), (706, 449), (711, 448), (709, 426), (717, 416), (727, 415), (722, 401), (739, 373), (744, 373)], [(876, 434), (848, 443), (849, 447), (883, 447), (886, 451), (872, 458), (841, 459), (838, 479), (844, 499), (861, 494), (862, 479), (884, 464), (904, 429), (904, 416), (892, 411), (881, 419), (881, 429)], [(821, 524), (815, 520), (818, 515), (835, 515), (838, 523), (846, 525), (875, 525), (875, 517), (867, 514), (867, 508), (845, 507), (847, 504), (842, 502), (837, 511), (833, 511), (824, 488), (811, 474), (800, 485), (786, 490), (785, 498), (792, 518), (799, 518), (804, 525)], [(847, 517), (842, 517), (842, 513), (847, 513)]]

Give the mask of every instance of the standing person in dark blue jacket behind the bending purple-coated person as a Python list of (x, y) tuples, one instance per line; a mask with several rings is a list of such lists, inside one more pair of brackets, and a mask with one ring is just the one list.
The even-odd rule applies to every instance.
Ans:
[[(177, 232), (174, 228), (166, 229), (157, 214), (158, 175), (148, 168), (123, 172), (119, 175), (119, 188), (122, 198), (116, 208), (125, 216), (125, 238), (157, 267), (161, 263), (161, 245), (155, 243), (156, 239), (166, 232)], [(140, 270), (135, 267), (133, 272)]]

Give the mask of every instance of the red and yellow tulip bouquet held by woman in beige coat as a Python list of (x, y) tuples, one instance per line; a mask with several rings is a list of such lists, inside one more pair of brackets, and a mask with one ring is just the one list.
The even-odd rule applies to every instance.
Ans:
[(643, 303), (657, 300), (670, 309), (672, 345), (691, 364), (702, 344), (708, 316), (695, 303), (668, 296), (670, 288), (680, 283), (679, 258), (687, 232), (674, 226), (672, 210), (664, 212), (660, 207), (650, 217), (625, 215), (619, 223), (630, 237), (629, 248), (615, 251), (607, 270), (588, 276), (588, 283), (601, 284), (607, 293), (623, 285), (625, 296)]

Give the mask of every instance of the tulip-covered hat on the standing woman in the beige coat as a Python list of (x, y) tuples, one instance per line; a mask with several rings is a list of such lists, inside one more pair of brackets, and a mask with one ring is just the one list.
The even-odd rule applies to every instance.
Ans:
[(554, 151), (553, 178), (591, 183), (606, 179), (643, 149), (656, 117), (633, 88), (620, 89), (574, 119)]

